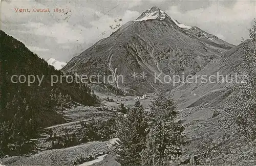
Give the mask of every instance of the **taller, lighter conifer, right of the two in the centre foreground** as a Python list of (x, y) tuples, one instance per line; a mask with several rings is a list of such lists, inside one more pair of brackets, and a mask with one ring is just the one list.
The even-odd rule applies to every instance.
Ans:
[(158, 92), (151, 105), (146, 148), (141, 152), (142, 165), (169, 165), (169, 161), (182, 154), (182, 147), (188, 141), (177, 116), (174, 100)]

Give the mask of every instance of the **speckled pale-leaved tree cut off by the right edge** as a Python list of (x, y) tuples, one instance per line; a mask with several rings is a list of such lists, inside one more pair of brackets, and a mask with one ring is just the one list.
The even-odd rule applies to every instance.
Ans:
[[(246, 83), (237, 83), (232, 88), (230, 104), (225, 108), (224, 123), (233, 130), (236, 138), (251, 144), (256, 140), (256, 21), (249, 29), (250, 40), (243, 43), (243, 63), (237, 73), (247, 76)], [(253, 147), (252, 156), (254, 157)]]

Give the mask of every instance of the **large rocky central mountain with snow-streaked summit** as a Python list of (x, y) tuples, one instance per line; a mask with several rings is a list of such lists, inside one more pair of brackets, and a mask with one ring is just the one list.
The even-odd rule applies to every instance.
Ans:
[[(74, 57), (62, 70), (79, 75), (114, 75), (112, 84), (118, 88), (130, 93), (153, 92), (165, 75), (195, 75), (232, 47), (152, 7)], [(131, 78), (134, 73), (137, 75)], [(123, 81), (117, 79), (120, 75)], [(172, 89), (173, 85), (165, 88)]]

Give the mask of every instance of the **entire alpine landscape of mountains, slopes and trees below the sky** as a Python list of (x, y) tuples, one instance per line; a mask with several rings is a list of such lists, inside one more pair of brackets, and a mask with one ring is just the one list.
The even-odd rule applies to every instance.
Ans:
[[(152, 7), (66, 64), (39, 58), (23, 43), (1, 31), (2, 164), (119, 166), (127, 165), (126, 161), (136, 165), (140, 163), (136, 159), (141, 158), (144, 165), (255, 165), (255, 139), (243, 142), (234, 134), (234, 127), (226, 125), (229, 108), (236, 110), (243, 103), (248, 109), (255, 108), (247, 104), (255, 102), (248, 97), (255, 94), (253, 90), (247, 91), (243, 98), (242, 91), (246, 88), (240, 88), (237, 91), (241, 96), (234, 100), (237, 86), (233, 82), (203, 82), (196, 77), (221, 75), (230, 80), (238, 69), (245, 72), (248, 69), (243, 65), (245, 54), (253, 50), (255, 53), (255, 35), (251, 31), (250, 34), (251, 39), (232, 45)], [(245, 52), (245, 47), (252, 51)], [(250, 66), (249, 69), (253, 68)], [(10, 83), (12, 74), (24, 72), (48, 77), (40, 87)], [(114, 79), (111, 83), (67, 81), (51, 87), (53, 74), (110, 75)], [(123, 81), (118, 76), (123, 76)], [(166, 83), (166, 76), (170, 76), (172, 83)], [(178, 80), (174, 76), (179, 76)], [(187, 82), (184, 80), (187, 76), (197, 81)], [(167, 100), (167, 96), (173, 100)], [(239, 105), (234, 104), (238, 101)], [(169, 114), (165, 109), (170, 109), (166, 103), (173, 104), (175, 111), (170, 117), (177, 117), (174, 121), (166, 118)], [(162, 114), (156, 115), (159, 110)], [(246, 117), (251, 114), (253, 111)], [(159, 123), (164, 119), (167, 119), (164, 125)], [(249, 122), (254, 121), (246, 121)], [(157, 125), (152, 127), (154, 123)], [(164, 129), (169, 128), (161, 127), (168, 124), (177, 129), (167, 133), (168, 138), (173, 138), (166, 146), (171, 150), (158, 154), (166, 147), (156, 145), (168, 140), (156, 133), (163, 131), (160, 135), (166, 136)], [(144, 127), (148, 129), (144, 132), (152, 135), (147, 133), (141, 138)], [(254, 129), (255, 125), (250, 127)], [(179, 132), (184, 135), (177, 136)], [(179, 145), (182, 150), (177, 148)], [(146, 148), (141, 150), (142, 147)], [(159, 158), (154, 158), (155, 155), (162, 157), (167, 153), (172, 154), (167, 157), (172, 161), (155, 162)]]

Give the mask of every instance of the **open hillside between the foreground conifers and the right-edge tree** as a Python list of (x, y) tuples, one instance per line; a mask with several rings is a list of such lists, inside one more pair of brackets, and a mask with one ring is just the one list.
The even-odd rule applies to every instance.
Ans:
[[(250, 45), (251, 40), (211, 61), (194, 76), (193, 83), (186, 82), (171, 91), (177, 99), (186, 134), (191, 138), (188, 151), (183, 156), (187, 162), (194, 156), (205, 162), (202, 161), (205, 155), (202, 150), (210, 148), (214, 149), (210, 157), (215, 165), (249, 165), (254, 162), (248, 159), (251, 149), (239, 143), (231, 129), (225, 126), (223, 110), (230, 104), (231, 86), (245, 78), (241, 75), (236, 80), (236, 67), (240, 67), (244, 59), (243, 44)], [(207, 82), (201, 79), (202, 75), (207, 76)]]

